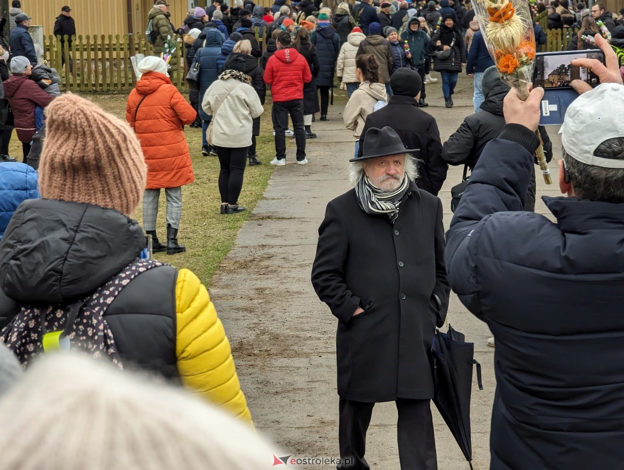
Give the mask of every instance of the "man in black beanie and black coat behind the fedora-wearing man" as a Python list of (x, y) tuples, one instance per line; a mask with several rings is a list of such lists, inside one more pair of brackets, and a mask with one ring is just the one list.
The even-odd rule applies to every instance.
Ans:
[(419, 176), (414, 181), (419, 188), (437, 196), (449, 166), (442, 160), (442, 142), (436, 119), (418, 108), (421, 76), (416, 71), (402, 67), (392, 74), (390, 86), (394, 95), (388, 105), (366, 117), (359, 137), (358, 155), (363, 152), (366, 130), (389, 125), (407, 147), (419, 149), (418, 159), (422, 160), (422, 164)]

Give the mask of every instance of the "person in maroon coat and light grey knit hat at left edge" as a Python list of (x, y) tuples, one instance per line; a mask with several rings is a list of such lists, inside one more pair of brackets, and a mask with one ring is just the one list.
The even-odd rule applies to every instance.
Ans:
[(45, 108), (54, 97), (28, 79), (32, 73), (32, 66), (26, 57), (13, 57), (10, 68), (12, 76), (2, 82), (2, 86), (4, 96), (9, 99), (13, 110), (15, 130), (17, 138), (22, 142), (23, 161), (26, 163), (26, 157), (31, 150), (32, 136), (36, 132), (35, 108), (37, 106)]

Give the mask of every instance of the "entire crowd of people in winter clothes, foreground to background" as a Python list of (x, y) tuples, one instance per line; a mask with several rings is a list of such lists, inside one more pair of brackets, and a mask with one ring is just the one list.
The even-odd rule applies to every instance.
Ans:
[[(538, 4), (560, 17), (567, 6)], [(256, 140), (268, 92), (270, 164), (286, 165), (290, 135), (305, 165), (316, 115), (329, 119), (334, 76), (349, 96), (343, 124), (353, 130), (353, 188), (327, 206), (311, 283), (338, 318), (338, 469), (370, 468), (366, 434), (383, 401), (396, 402), (401, 468), (437, 469), (431, 346), (451, 289), (497, 338), (490, 468), (618, 468), (624, 84), (595, 20), (609, 41), (624, 27), (607, 21), (600, 3), (584, 7), (573, 15), (581, 24), (575, 47), (599, 47), (606, 63), (572, 62), (601, 84), (570, 83), (580, 97), (560, 132), (558, 184), (567, 197), (544, 198), (556, 222), (534, 213), (535, 150), (542, 145), (553, 158), (539, 125), (544, 90), (526, 101), (510, 90), (460, 0), (362, 0), (336, 11), (308, 0), (235, 0), (230, 10), (214, 0), (177, 31), (167, 0), (156, 0), (155, 55), (137, 64), (125, 120), (61, 95), (54, 71), (32, 62), (30, 17), (13, 15), (9, 44), (0, 37), (2, 92), (14, 117), (0, 122), (0, 433), (21, 438), (0, 468), (270, 466), (264, 459), (275, 446), (251, 431), (207, 288), (190, 270), (143, 257), (144, 234), (155, 253), (186, 250), (178, 243), (182, 187), (195, 175), (185, 126), (202, 128), (202, 154), (220, 162), (220, 214), (240, 213), (246, 166), (262, 164)], [(70, 12), (63, 7), (61, 16)], [(177, 33), (197, 71), (188, 100), (158, 57), (163, 37)], [(447, 108), (459, 73), (473, 77), (475, 112), (444, 143), (423, 109), (432, 71)], [(8, 154), (12, 130), (23, 163)], [(445, 235), (437, 195), (449, 164), (472, 173)], [(158, 238), (161, 190), (167, 243)], [(142, 226), (131, 218), (141, 202)], [(70, 348), (110, 364), (39, 359)], [(59, 406), (42, 405), (48, 401)], [(39, 447), (39, 436), (25, 431), (33, 420), (52, 436)], [(187, 448), (171, 446), (172, 437), (186, 438)]]

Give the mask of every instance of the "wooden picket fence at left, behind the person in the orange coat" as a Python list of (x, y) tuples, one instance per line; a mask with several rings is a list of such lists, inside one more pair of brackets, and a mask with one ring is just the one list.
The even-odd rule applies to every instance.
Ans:
[[(177, 44), (180, 46), (175, 51), (178, 65), (169, 74), (175, 86), (184, 88), (184, 46), (182, 42)], [(152, 55), (152, 44), (129, 34), (77, 36), (71, 50), (67, 41), (61, 46), (60, 36), (44, 36), (44, 60), (61, 75), (62, 91), (129, 91), (137, 81), (130, 57), (139, 53)], [(71, 72), (67, 63), (62, 66), (63, 56), (72, 57), (74, 66)]]

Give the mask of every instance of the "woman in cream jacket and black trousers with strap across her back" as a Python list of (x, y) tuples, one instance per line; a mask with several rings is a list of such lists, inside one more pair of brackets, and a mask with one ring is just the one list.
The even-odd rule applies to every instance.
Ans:
[(234, 56), (225, 62), (228, 69), (219, 75), (203, 97), (202, 108), (212, 115), (212, 142), (217, 147), (221, 170), (219, 193), (221, 213), (242, 212), (238, 196), (253, 134), (253, 120), (264, 111), (258, 94), (245, 75), (246, 61)]

